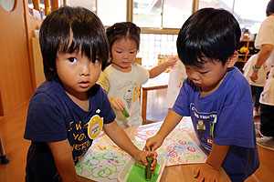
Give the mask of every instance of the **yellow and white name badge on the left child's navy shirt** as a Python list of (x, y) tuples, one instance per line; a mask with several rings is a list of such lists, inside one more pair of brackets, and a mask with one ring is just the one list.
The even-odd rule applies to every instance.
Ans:
[(88, 135), (91, 139), (94, 139), (100, 134), (103, 126), (103, 118), (99, 115), (94, 115), (90, 118), (88, 126)]

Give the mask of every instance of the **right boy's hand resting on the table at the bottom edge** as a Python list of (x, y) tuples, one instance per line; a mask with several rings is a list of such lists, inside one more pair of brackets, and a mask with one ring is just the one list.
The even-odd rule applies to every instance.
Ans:
[(220, 175), (219, 170), (205, 163), (195, 168), (194, 177), (196, 178), (197, 182), (218, 182)]

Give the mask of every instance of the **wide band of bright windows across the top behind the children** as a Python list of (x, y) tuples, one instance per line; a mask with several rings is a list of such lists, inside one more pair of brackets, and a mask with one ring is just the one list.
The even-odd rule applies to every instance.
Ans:
[[(132, 21), (149, 31), (166, 28), (179, 29), (184, 21), (197, 9), (204, 7), (225, 8), (235, 15), (241, 28), (251, 34), (258, 33), (266, 18), (269, 0), (66, 0), (67, 5), (81, 5), (95, 12), (103, 25)], [(194, 5), (194, 7), (193, 7)]]

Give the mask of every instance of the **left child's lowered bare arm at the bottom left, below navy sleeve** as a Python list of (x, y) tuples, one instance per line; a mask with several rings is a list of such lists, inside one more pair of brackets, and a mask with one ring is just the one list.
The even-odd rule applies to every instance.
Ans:
[(48, 142), (47, 145), (51, 150), (55, 166), (63, 182), (79, 182), (68, 139), (59, 142)]

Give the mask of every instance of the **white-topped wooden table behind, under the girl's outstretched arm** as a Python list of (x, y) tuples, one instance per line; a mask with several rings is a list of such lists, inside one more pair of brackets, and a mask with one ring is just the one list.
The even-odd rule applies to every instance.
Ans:
[(151, 123), (146, 119), (147, 108), (147, 92), (150, 90), (167, 88), (169, 80), (169, 73), (162, 73), (152, 79), (149, 79), (147, 83), (142, 85), (142, 124)]

